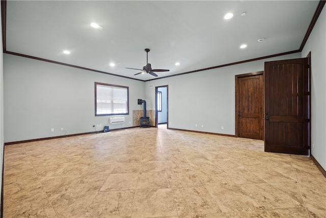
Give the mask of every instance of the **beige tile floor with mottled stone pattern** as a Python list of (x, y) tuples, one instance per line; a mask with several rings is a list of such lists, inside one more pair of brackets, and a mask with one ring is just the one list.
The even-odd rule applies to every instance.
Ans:
[(165, 128), (5, 147), (4, 217), (326, 217), (309, 157)]

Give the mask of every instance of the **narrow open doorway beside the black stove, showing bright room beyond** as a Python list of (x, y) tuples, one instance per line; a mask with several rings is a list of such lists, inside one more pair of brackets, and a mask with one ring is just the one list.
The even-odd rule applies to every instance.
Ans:
[(155, 127), (165, 124), (169, 128), (168, 85), (155, 87)]

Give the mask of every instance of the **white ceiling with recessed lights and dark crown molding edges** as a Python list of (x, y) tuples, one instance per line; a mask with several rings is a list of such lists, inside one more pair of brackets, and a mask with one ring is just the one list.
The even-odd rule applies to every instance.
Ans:
[(7, 1), (6, 50), (146, 81), (125, 69), (143, 68), (146, 48), (153, 69), (170, 69), (158, 78), (298, 50), (318, 3)]

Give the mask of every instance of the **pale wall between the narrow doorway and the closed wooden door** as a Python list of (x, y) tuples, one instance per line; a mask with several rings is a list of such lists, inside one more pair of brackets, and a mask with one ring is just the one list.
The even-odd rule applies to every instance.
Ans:
[(149, 85), (169, 85), (169, 128), (235, 135), (235, 75), (262, 71), (264, 61), (292, 58), (301, 54), (148, 81), (147, 107), (155, 109), (155, 88)]

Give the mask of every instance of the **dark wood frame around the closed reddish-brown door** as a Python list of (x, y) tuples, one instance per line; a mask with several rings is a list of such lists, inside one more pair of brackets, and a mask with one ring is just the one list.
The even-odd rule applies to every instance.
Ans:
[[(250, 76), (257, 76), (257, 75), (264, 75), (264, 71), (257, 71), (257, 72), (249, 72), (248, 74), (240, 74), (240, 75), (235, 75), (235, 137), (239, 137), (239, 117), (238, 117), (238, 111), (239, 109), (239, 102), (238, 102), (238, 79), (241, 77), (250, 77)], [(263, 85), (264, 86), (264, 85)], [(264, 87), (262, 87), (264, 89)], [(264, 113), (264, 93), (263, 93), (263, 111)], [(265, 126), (263, 126), (263, 133), (265, 133)], [(265, 139), (265, 134), (263, 134), (263, 140)]]

